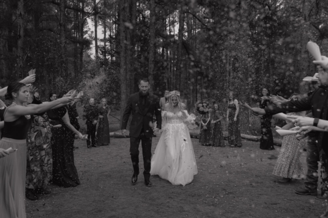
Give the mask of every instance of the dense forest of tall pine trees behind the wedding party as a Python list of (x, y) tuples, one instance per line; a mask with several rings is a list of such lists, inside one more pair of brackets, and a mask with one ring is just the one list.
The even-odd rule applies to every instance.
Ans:
[[(327, 38), (328, 0), (2, 0), (0, 86), (36, 68), (43, 100), (78, 89), (121, 115), (148, 77), (159, 96), (179, 90), (190, 111), (207, 100), (225, 113), (229, 91), (253, 105), (262, 88), (309, 91), (306, 43), (326, 54)], [(242, 133), (251, 116), (241, 111)]]

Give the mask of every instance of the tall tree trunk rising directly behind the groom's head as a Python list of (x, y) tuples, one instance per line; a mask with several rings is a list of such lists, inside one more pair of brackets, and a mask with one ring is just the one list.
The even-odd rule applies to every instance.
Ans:
[(149, 26), (149, 62), (148, 62), (148, 78), (150, 90), (154, 91), (154, 66), (155, 66), (155, 0), (150, 0), (150, 26)]

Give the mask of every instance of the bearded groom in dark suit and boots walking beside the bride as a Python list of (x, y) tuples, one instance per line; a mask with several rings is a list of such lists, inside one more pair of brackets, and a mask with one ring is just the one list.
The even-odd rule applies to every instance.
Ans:
[[(127, 134), (127, 124), (132, 112), (130, 124), (130, 155), (133, 164), (132, 184), (138, 180), (139, 174), (139, 143), (141, 140), (142, 156), (144, 157), (144, 178), (147, 187), (151, 187), (150, 182), (150, 160), (152, 157), (152, 136), (157, 134), (161, 128), (162, 118), (159, 99), (156, 95), (149, 93), (149, 80), (144, 78), (139, 82), (139, 92), (130, 95), (125, 108), (121, 130), (122, 134)], [(153, 115), (156, 116), (157, 126), (153, 130), (150, 123), (153, 122)]]

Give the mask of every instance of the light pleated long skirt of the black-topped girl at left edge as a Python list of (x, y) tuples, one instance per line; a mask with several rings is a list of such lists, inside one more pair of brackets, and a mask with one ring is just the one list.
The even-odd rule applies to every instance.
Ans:
[(3, 138), (2, 149), (17, 149), (0, 158), (0, 216), (25, 218), (26, 139)]

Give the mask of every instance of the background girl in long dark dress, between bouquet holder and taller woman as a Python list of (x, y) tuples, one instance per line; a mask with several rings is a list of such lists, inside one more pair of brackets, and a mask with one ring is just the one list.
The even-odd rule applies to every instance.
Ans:
[(223, 131), (222, 131), (222, 125), (221, 125), (221, 119), (223, 119), (223, 116), (219, 112), (218, 104), (214, 104), (214, 110), (213, 110), (212, 114), (213, 114), (212, 120), (211, 120), (212, 146), (226, 147), (226, 143), (224, 143)]

